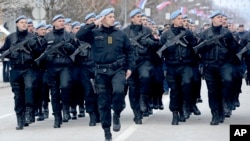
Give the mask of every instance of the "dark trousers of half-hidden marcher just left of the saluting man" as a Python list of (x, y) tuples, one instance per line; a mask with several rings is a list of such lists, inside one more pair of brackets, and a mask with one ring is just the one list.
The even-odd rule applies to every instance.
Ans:
[(97, 94), (94, 93), (94, 87), (92, 86), (90, 79), (94, 80), (94, 68), (89, 66), (81, 67), (80, 72), (80, 79), (81, 85), (84, 91), (85, 97), (85, 108), (87, 113), (97, 112), (98, 105), (97, 105)]

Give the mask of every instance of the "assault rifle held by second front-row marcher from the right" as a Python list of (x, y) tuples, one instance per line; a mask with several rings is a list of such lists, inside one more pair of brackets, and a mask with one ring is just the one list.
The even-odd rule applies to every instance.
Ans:
[(177, 36), (175, 36), (172, 40), (167, 41), (156, 53), (159, 55), (159, 57), (162, 56), (162, 52), (174, 45), (180, 44), (184, 47), (186, 47), (187, 45), (185, 43), (183, 43), (180, 39), (186, 34), (185, 31), (181, 31), (180, 34), (178, 34)]

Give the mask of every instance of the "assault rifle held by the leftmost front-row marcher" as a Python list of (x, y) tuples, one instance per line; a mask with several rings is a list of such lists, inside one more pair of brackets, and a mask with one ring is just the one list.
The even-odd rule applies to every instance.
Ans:
[(25, 39), (25, 40), (23, 40), (22, 42), (19, 42), (19, 43), (15, 44), (15, 45), (11, 45), (10, 48), (9, 48), (8, 50), (6, 50), (6, 51), (4, 51), (4, 52), (2, 53), (1, 59), (4, 59), (5, 56), (7, 56), (7, 55), (9, 55), (10, 53), (15, 52), (15, 51), (24, 51), (24, 52), (30, 54), (31, 49), (30, 49), (30, 50), (27, 50), (27, 49), (24, 47), (24, 45), (26, 45), (28, 42), (29, 42), (29, 39)]

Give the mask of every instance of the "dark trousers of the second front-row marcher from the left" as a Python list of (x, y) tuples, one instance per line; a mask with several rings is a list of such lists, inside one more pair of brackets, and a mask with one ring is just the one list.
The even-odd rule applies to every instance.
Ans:
[(69, 106), (72, 84), (71, 70), (68, 66), (51, 66), (47, 71), (52, 109), (54, 114), (59, 114), (62, 109), (61, 104)]

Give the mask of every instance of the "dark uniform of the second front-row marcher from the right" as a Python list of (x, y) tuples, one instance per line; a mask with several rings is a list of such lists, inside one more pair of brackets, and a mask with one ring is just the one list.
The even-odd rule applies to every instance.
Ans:
[[(173, 45), (163, 51), (163, 56), (167, 65), (167, 81), (170, 87), (170, 111), (173, 112), (172, 124), (176, 125), (179, 121), (185, 121), (190, 114), (190, 101), (193, 79), (193, 46), (196, 38), (191, 31), (183, 27), (171, 26), (170, 30), (161, 36), (161, 44), (171, 41), (176, 35), (185, 32), (185, 36), (180, 39), (186, 47), (181, 44)], [(184, 118), (185, 116), (185, 118)]]

